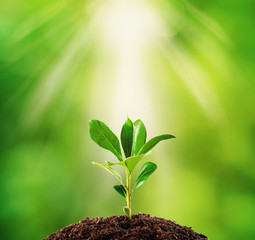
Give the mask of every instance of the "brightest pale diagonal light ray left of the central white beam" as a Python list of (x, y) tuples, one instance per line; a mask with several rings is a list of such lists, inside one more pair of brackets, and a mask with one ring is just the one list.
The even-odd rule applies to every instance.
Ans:
[[(81, 52), (81, 49), (83, 50)], [(65, 49), (63, 57), (61, 57), (55, 64), (52, 64), (50, 69), (45, 72), (44, 76), (39, 80), (38, 86), (34, 90), (30, 97), (30, 104), (27, 106), (30, 118), (24, 119), (25, 126), (35, 124), (35, 120), (40, 119), (40, 116), (44, 113), (51, 102), (58, 96), (63, 85), (67, 81), (68, 77), (73, 73), (76, 66), (79, 64), (79, 55), (86, 56), (89, 49), (88, 40), (88, 28), (82, 28), (73, 41)], [(35, 103), (37, 103), (35, 105)], [(24, 116), (27, 114), (25, 113)]]

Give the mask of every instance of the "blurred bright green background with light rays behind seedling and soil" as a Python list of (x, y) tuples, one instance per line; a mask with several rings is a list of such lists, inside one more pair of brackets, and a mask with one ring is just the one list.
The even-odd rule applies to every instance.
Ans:
[(0, 2), (1, 239), (34, 240), (86, 216), (122, 213), (114, 160), (88, 135), (125, 115), (158, 170), (133, 212), (209, 239), (255, 239), (255, 3)]

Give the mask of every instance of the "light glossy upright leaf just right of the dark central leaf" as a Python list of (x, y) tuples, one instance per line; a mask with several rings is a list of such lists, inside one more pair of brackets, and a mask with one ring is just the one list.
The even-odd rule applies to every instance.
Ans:
[(138, 119), (133, 124), (133, 146), (132, 146), (132, 156), (137, 155), (141, 147), (146, 142), (146, 128), (143, 122)]

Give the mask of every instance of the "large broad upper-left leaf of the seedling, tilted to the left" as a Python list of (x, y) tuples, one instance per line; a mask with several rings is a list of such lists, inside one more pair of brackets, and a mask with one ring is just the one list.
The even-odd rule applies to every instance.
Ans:
[(100, 147), (111, 151), (119, 161), (123, 161), (121, 157), (120, 142), (110, 128), (98, 120), (91, 120), (89, 122), (89, 127), (91, 139)]

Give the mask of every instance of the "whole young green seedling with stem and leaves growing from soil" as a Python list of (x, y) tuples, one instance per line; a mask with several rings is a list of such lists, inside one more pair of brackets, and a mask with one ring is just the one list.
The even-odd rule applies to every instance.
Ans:
[[(126, 199), (127, 206), (123, 208), (125, 214), (131, 219), (131, 195), (132, 192), (140, 187), (149, 176), (157, 169), (157, 165), (152, 162), (143, 164), (138, 177), (131, 186), (131, 173), (136, 165), (150, 153), (150, 150), (155, 147), (160, 141), (175, 138), (170, 134), (164, 134), (150, 139), (146, 142), (146, 129), (143, 122), (139, 119), (134, 123), (127, 117), (121, 130), (121, 145), (124, 154), (121, 152), (120, 142), (116, 135), (99, 120), (91, 120), (89, 122), (89, 133), (91, 139), (100, 147), (111, 151), (119, 160), (119, 162), (106, 161), (105, 164), (92, 162), (94, 165), (111, 173), (118, 181), (119, 185), (113, 188)], [(125, 168), (126, 182), (123, 183), (121, 176), (112, 166), (120, 165)]]

